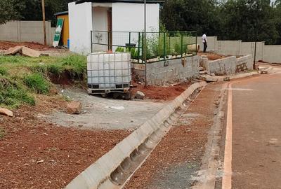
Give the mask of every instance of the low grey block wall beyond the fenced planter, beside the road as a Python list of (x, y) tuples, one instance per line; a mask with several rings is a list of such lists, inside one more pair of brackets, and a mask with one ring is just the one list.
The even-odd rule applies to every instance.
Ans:
[(226, 57), (210, 61), (204, 68), (207, 69), (208, 73), (214, 73), (217, 76), (232, 75), (242, 71), (252, 70), (253, 59), (251, 55), (239, 58), (236, 58), (235, 56)]

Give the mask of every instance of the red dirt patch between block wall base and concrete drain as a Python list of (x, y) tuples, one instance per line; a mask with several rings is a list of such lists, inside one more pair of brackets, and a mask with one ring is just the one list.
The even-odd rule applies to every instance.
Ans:
[(185, 91), (191, 83), (182, 83), (176, 86), (170, 87), (161, 87), (161, 86), (150, 86), (148, 85), (140, 85), (137, 83), (133, 84), (136, 87), (133, 87), (133, 95), (136, 94), (137, 91), (141, 91), (145, 93), (145, 97), (148, 99), (155, 99), (155, 100), (164, 100), (170, 101), (178, 97), (183, 91)]

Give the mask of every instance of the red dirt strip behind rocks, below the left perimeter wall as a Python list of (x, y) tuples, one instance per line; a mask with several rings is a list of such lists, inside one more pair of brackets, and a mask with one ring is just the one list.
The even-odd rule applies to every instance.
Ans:
[(50, 50), (55, 49), (48, 45), (42, 45), (41, 43), (34, 43), (34, 42), (11, 42), (11, 41), (0, 41), (0, 50), (8, 50), (9, 48), (13, 48), (17, 45), (24, 45), (28, 48), (32, 48), (34, 50)]

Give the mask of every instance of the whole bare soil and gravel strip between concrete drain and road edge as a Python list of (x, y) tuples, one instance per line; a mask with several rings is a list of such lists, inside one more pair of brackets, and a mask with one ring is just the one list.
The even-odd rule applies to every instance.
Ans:
[[(214, 89), (214, 85), (208, 85), (199, 94), (126, 184), (126, 188), (164, 189), (192, 186), (194, 181), (187, 183), (185, 179), (178, 179), (178, 173), (194, 174), (195, 169), (200, 169), (208, 131), (213, 124), (214, 102), (218, 95), (219, 90)], [(174, 170), (173, 167), (178, 168)]]

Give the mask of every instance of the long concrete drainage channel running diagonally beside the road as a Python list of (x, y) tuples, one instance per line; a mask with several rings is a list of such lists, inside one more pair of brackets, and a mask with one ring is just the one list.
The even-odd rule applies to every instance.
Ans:
[(169, 132), (171, 123), (187, 109), (188, 98), (206, 82), (192, 84), (135, 132), (72, 180), (66, 189), (123, 188), (136, 170)]

